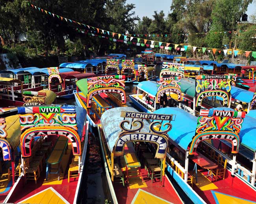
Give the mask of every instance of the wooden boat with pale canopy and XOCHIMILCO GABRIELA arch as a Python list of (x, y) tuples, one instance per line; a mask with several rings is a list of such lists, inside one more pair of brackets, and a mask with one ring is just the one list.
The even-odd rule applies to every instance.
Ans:
[[(117, 107), (102, 114), (98, 126), (111, 203), (183, 203), (165, 175), (167, 132), (147, 122), (148, 118), (172, 115), (139, 113), (132, 107)], [(133, 135), (132, 137), (130, 137)]]

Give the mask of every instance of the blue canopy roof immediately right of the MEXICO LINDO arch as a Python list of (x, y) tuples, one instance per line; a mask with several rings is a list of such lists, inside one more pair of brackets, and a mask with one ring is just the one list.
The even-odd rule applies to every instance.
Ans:
[(231, 87), (231, 96), (236, 100), (241, 100), (245, 103), (250, 103), (254, 93), (245, 89), (238, 88), (236, 86)]

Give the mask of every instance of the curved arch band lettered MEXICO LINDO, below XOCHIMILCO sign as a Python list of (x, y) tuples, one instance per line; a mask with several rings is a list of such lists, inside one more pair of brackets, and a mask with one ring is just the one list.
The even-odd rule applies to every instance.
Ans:
[(198, 96), (197, 96), (197, 100), (196, 100), (196, 106), (201, 106), (201, 103), (203, 101), (204, 98), (206, 97), (221, 97), (223, 98), (223, 106), (228, 106), (229, 104), (229, 95), (228, 93), (226, 93), (226, 91), (223, 90), (210, 90), (210, 91), (203, 91), (201, 92)]

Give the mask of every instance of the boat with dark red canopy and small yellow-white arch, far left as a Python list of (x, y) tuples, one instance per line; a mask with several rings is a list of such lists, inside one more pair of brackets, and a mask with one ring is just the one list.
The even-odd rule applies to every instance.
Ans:
[(95, 76), (94, 73), (80, 73), (78, 71), (59, 72), (59, 67), (49, 67), (49, 90), (54, 91), (58, 98), (74, 98), (76, 81)]

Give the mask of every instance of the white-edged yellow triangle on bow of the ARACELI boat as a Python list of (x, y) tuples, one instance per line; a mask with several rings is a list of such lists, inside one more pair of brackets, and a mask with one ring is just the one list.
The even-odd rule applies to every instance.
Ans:
[(47, 188), (32, 197), (22, 200), (20, 203), (40, 203), (40, 204), (65, 204), (67, 200), (63, 199), (53, 188)]

